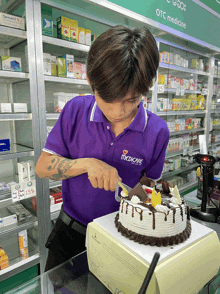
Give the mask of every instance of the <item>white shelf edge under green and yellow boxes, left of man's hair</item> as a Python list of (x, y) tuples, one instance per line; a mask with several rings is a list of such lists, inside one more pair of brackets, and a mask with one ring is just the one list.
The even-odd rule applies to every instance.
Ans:
[(74, 49), (74, 50), (83, 51), (83, 52), (89, 52), (89, 49), (90, 49), (90, 46), (87, 46), (87, 45), (69, 42), (66, 40), (48, 37), (45, 35), (42, 35), (42, 41), (43, 43), (46, 43), (46, 44), (51, 44), (51, 45), (55, 45), (59, 47), (65, 47), (65, 48)]

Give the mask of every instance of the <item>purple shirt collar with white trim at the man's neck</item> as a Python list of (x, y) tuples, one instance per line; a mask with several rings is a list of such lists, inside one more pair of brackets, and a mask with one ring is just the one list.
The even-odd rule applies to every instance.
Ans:
[[(137, 112), (134, 120), (127, 127), (127, 129), (130, 129), (133, 131), (138, 131), (138, 132), (144, 132), (144, 130), (147, 126), (147, 120), (148, 120), (147, 111), (144, 109), (143, 102), (141, 101), (139, 104), (138, 112)], [(107, 123), (107, 121), (105, 120), (104, 115), (103, 115), (102, 111), (100, 110), (100, 108), (98, 107), (96, 101), (94, 102), (93, 107), (92, 107), (92, 111), (90, 114), (90, 121)]]

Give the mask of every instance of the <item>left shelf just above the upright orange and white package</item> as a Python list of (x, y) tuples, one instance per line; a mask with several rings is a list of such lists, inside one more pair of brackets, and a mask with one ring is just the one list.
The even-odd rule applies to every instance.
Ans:
[(16, 224), (0, 228), (0, 241), (10, 237), (12, 234), (16, 234), (20, 231), (27, 230), (38, 225), (37, 218), (35, 216), (28, 217), (26, 220), (17, 222)]

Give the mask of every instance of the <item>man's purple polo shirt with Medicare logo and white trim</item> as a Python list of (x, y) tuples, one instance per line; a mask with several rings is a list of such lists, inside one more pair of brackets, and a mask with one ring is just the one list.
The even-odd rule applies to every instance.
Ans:
[[(115, 138), (93, 95), (70, 100), (50, 132), (44, 151), (66, 158), (97, 158), (115, 167), (122, 182), (133, 188), (143, 169), (158, 179), (165, 160), (169, 130), (164, 120), (146, 111), (138, 113), (123, 133)], [(93, 188), (88, 174), (63, 180), (63, 208), (87, 225), (93, 219), (119, 209), (115, 192)]]

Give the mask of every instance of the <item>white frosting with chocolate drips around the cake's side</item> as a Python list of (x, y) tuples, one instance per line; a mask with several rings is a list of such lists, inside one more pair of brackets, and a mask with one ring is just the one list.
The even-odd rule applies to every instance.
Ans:
[[(157, 206), (160, 208), (162, 205)], [(164, 207), (166, 209), (166, 206)], [(119, 221), (125, 228), (140, 235), (170, 237), (180, 234), (185, 230), (187, 225), (187, 212), (185, 208), (186, 205), (181, 204), (181, 209), (177, 206), (175, 213), (174, 210), (168, 209), (168, 214), (159, 211), (153, 215), (148, 208), (123, 199), (119, 208)], [(153, 228), (153, 219), (155, 219), (155, 228)]]

